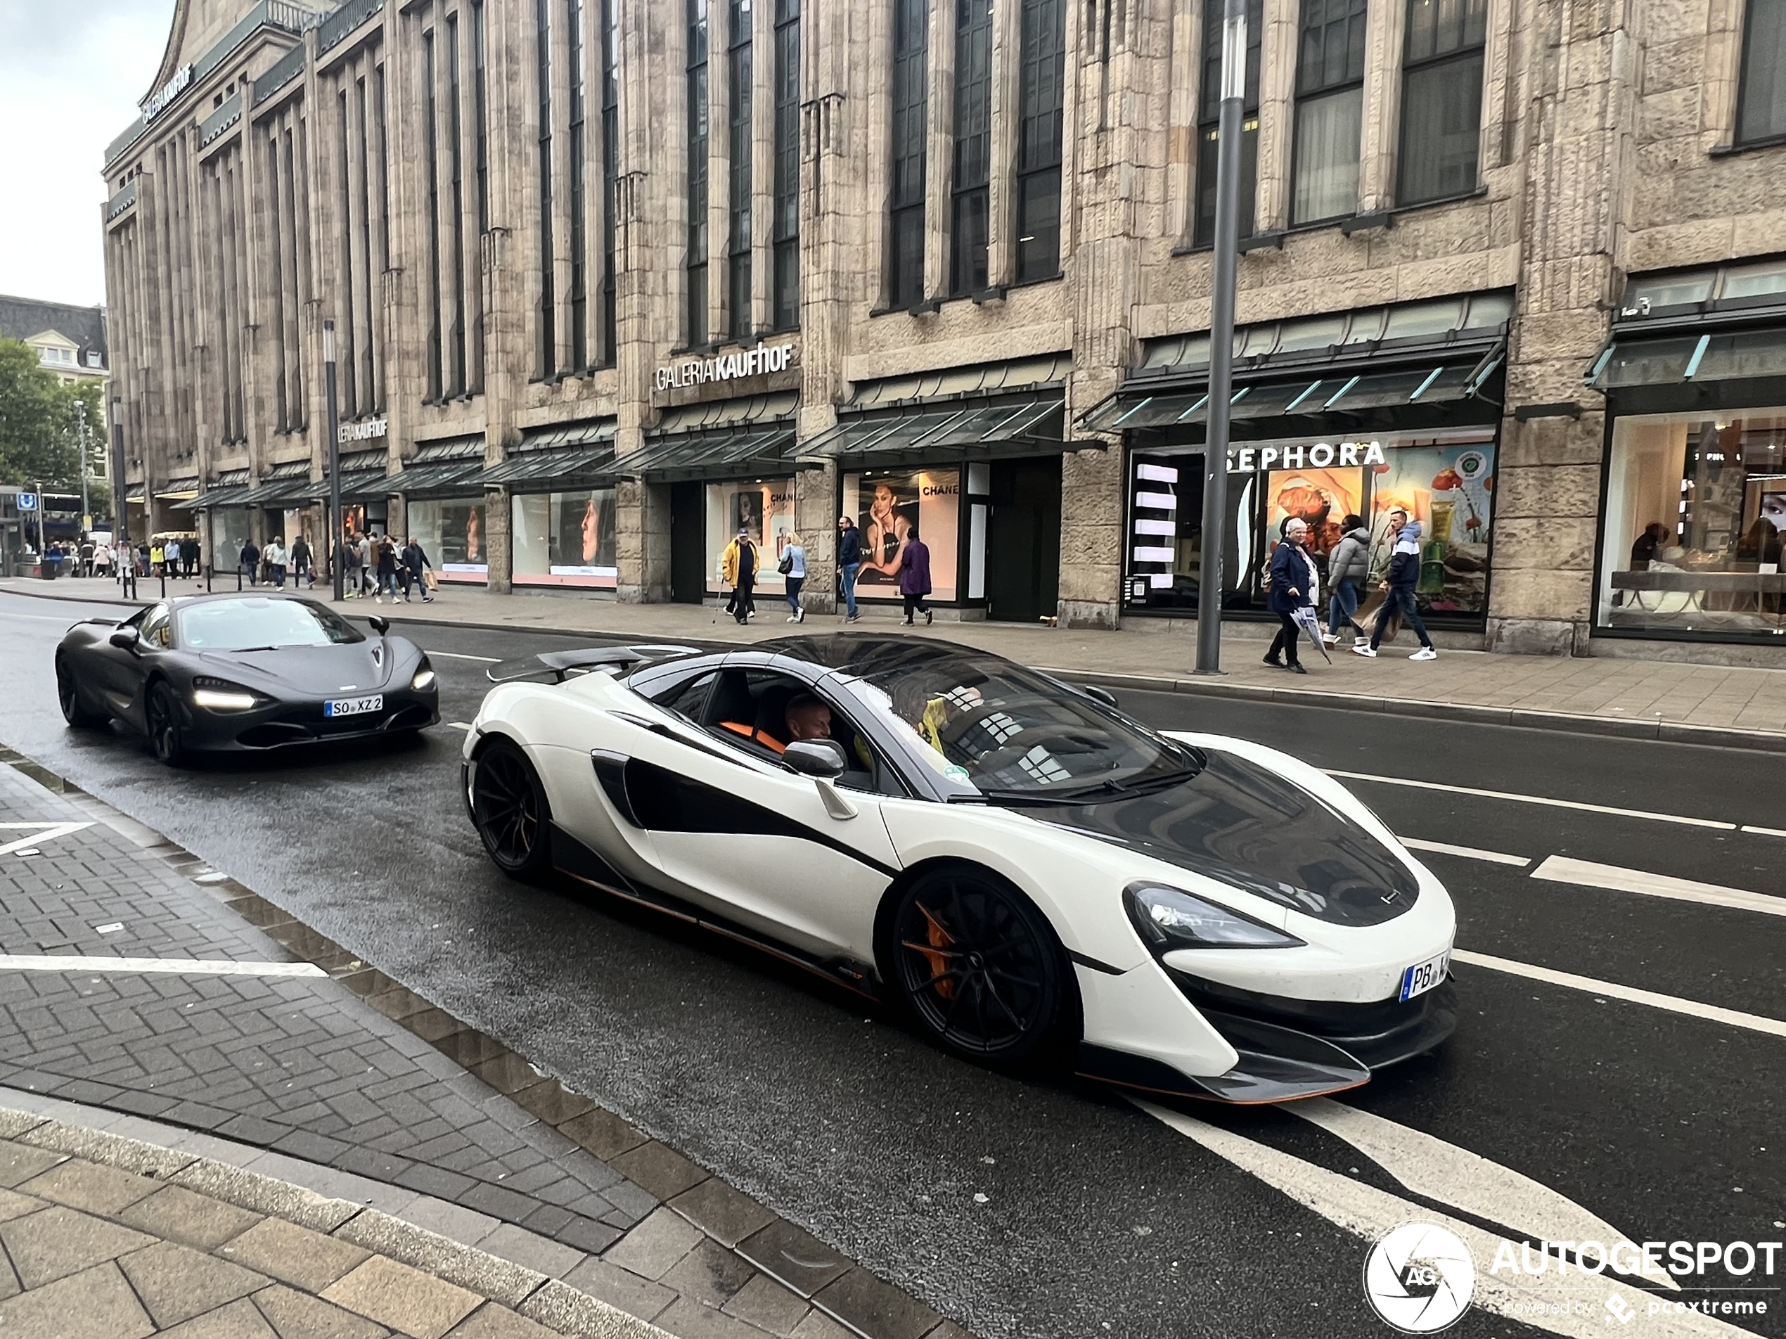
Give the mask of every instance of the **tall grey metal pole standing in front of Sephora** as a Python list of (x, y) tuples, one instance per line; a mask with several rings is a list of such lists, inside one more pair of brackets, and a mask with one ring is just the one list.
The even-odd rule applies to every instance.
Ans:
[(1222, 120), (1216, 129), (1216, 250), (1209, 300), (1204, 555), (1197, 582), (1197, 673), (1200, 675), (1222, 673), (1222, 550), (1227, 539), (1229, 402), (1234, 398), (1234, 270), (1239, 262), (1239, 123), (1245, 98), (1247, 0), (1225, 0), (1222, 11)]

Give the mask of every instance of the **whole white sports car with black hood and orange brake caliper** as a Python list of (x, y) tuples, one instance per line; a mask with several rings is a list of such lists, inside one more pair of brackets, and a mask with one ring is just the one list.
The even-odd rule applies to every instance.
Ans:
[(918, 637), (491, 678), (464, 796), (502, 869), (764, 948), (961, 1055), (1282, 1102), (1456, 1027), (1445, 887), (1286, 753)]

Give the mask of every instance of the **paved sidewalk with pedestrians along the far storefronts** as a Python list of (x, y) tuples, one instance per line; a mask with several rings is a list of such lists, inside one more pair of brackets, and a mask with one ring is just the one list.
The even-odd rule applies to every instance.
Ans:
[[(234, 584), (234, 582), (230, 582)], [(141, 595), (157, 586), (143, 582)], [(170, 593), (204, 589), (204, 582), (170, 582)], [(0, 591), (50, 598), (107, 598), (107, 580), (0, 580)], [(586, 632), (654, 641), (750, 643), (793, 628), (786, 607), (764, 596), (748, 628), (716, 618), (709, 605), (623, 605), (614, 600), (489, 595), (446, 587), (429, 605), (352, 602), (348, 611), (388, 614), (393, 621), (439, 623), (538, 632)], [(1304, 650), (1307, 675), (1286, 675), (1259, 662), (1275, 628), (1263, 623), (1223, 627), (1222, 678), (1195, 678), (1195, 623), (1086, 632), (1011, 623), (938, 621), (911, 636), (945, 637), (993, 650), (1023, 664), (1059, 670), (1113, 686), (1177, 693), (1268, 696), (1279, 702), (1340, 705), (1420, 716), (1452, 716), (1506, 725), (1550, 727), (1688, 743), (1738, 744), (1786, 752), (1786, 670), (1741, 670), (1675, 661), (1609, 657), (1495, 655), (1447, 648), (1440, 659), (1409, 662), (1415, 643), (1406, 634), (1375, 661), (1336, 648), (1334, 664)], [(836, 618), (809, 616), (807, 632), (839, 627)], [(855, 625), (895, 628), (893, 612), (873, 611)]]

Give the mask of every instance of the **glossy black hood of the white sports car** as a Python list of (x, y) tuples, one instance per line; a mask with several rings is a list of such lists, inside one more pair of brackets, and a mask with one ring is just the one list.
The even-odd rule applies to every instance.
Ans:
[(1207, 766), (1170, 789), (1036, 816), (1329, 925), (1415, 905), (1415, 875), (1363, 823), (1259, 762), (1204, 752)]

